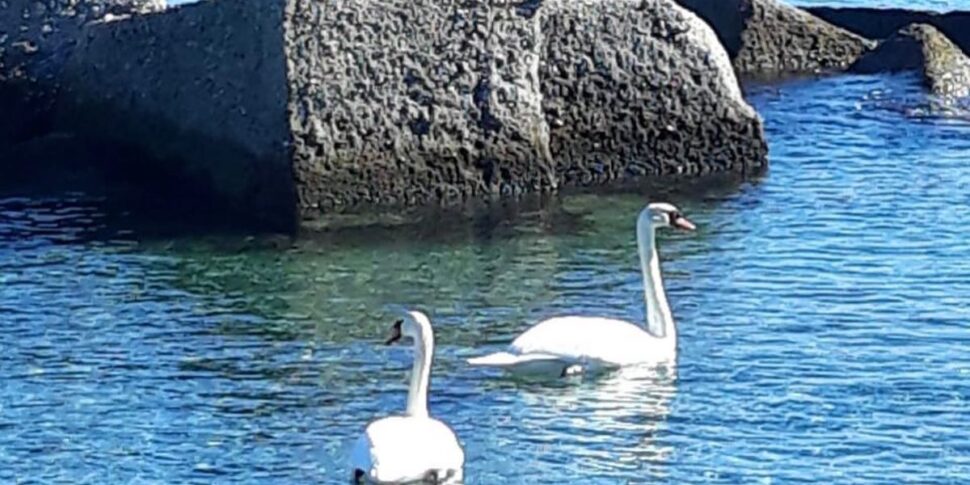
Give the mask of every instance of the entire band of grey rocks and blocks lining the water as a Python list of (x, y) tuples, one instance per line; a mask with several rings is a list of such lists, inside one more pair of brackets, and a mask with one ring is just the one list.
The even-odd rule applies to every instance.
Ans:
[(937, 95), (970, 92), (964, 13), (0, 1), (0, 170), (32, 162), (17, 146), (70, 133), (139, 154), (111, 170), (285, 231), (360, 208), (759, 173), (768, 143), (739, 77), (913, 70)]

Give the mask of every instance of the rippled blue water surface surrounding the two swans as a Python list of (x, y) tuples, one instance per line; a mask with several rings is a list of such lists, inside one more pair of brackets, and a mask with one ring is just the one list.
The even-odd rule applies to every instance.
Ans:
[(970, 125), (910, 85), (750, 89), (770, 172), (669, 196), (700, 229), (660, 239), (681, 341), (659, 376), (463, 364), (555, 314), (641, 321), (643, 194), (293, 244), (2, 198), (0, 480), (339, 483), (403, 409), (410, 352), (379, 345), (400, 305), (436, 323), (431, 406), (470, 484), (966, 483)]

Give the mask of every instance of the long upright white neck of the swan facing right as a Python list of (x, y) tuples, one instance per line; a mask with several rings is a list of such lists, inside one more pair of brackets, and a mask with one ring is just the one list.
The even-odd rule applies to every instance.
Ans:
[(656, 234), (649, 218), (637, 224), (637, 246), (640, 252), (640, 269), (643, 272), (643, 298), (646, 303), (647, 330), (657, 338), (674, 345), (677, 342), (677, 326), (670, 313), (663, 278), (660, 276), (660, 255), (657, 253)]

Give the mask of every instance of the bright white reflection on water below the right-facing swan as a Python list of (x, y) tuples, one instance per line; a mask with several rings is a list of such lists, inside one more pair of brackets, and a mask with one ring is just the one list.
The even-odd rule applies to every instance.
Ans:
[[(658, 439), (676, 394), (676, 367), (638, 365), (577, 385), (515, 384), (528, 406), (521, 423), (530, 441), (553, 456), (571, 456), (585, 476), (611, 479), (635, 473), (644, 480), (666, 475), (673, 447)], [(531, 424), (531, 425), (530, 425)]]

